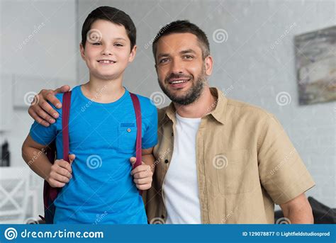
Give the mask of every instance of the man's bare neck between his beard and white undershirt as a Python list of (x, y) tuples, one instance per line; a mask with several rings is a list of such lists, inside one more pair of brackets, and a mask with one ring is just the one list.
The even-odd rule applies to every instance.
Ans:
[(206, 85), (201, 96), (193, 103), (182, 106), (174, 103), (177, 113), (184, 118), (202, 118), (215, 109), (216, 98), (211, 94), (210, 87)]

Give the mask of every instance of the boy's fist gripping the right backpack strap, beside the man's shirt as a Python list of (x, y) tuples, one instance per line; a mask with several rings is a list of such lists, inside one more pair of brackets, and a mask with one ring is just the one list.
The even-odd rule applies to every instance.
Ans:
[[(131, 157), (130, 162), (135, 164), (136, 158)], [(152, 186), (153, 172), (150, 166), (142, 162), (142, 164), (130, 172), (133, 175), (133, 181), (139, 190), (148, 190)]]

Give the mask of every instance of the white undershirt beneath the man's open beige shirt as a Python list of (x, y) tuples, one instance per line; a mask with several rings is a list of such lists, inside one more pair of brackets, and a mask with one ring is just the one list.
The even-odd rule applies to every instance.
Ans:
[(167, 224), (201, 224), (196, 167), (196, 135), (201, 118), (178, 114), (172, 161), (164, 179)]

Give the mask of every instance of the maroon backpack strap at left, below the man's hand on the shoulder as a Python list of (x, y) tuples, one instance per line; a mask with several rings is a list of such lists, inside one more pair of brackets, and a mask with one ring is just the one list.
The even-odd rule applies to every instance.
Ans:
[(71, 103), (71, 91), (63, 94), (62, 102), (62, 135), (63, 135), (63, 159), (69, 162), (69, 114)]

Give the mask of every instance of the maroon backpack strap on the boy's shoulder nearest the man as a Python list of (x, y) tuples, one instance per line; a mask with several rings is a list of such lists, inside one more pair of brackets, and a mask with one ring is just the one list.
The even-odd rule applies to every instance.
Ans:
[[(134, 111), (135, 111), (135, 119), (137, 121), (137, 142), (136, 142), (136, 162), (133, 164), (133, 169), (135, 167), (142, 164), (142, 120), (141, 120), (141, 108), (138, 96), (133, 93), (130, 93), (130, 98), (132, 98)], [(142, 191), (139, 191), (140, 195), (142, 195)]]

